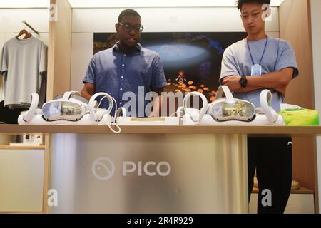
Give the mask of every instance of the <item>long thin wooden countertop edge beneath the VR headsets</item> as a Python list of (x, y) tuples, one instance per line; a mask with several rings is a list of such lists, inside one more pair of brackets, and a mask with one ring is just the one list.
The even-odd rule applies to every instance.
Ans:
[[(0, 125), (1, 133), (112, 133), (106, 125)], [(248, 134), (321, 136), (321, 126), (121, 126), (123, 134)]]

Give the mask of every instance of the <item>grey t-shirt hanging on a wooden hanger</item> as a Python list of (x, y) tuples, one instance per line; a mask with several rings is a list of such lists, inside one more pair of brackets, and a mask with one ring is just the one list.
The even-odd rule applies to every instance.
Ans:
[(0, 73), (4, 76), (4, 105), (31, 103), (31, 93), (39, 93), (46, 71), (47, 48), (31, 36), (26, 40), (11, 38), (4, 43)]

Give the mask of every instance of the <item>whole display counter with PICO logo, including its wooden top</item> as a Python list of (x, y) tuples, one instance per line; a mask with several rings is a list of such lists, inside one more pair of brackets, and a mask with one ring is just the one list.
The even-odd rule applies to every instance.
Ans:
[(114, 134), (0, 125), (0, 133), (49, 135), (51, 213), (248, 213), (247, 136), (314, 136), (321, 127), (122, 126)]

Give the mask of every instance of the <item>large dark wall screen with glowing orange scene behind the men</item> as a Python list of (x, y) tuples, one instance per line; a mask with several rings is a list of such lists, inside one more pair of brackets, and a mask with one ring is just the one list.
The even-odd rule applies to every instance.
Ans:
[[(165, 92), (203, 93), (215, 100), (225, 48), (246, 37), (242, 32), (142, 33), (141, 45), (156, 51), (163, 61)], [(93, 53), (111, 48), (116, 33), (94, 33)]]

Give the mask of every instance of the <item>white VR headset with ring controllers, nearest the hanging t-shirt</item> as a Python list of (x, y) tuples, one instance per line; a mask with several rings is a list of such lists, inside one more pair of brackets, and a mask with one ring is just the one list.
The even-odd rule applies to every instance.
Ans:
[[(102, 96), (97, 105), (96, 98)], [(99, 108), (103, 99), (109, 102), (108, 109)], [(19, 125), (108, 125), (111, 128), (113, 117), (111, 110), (115, 99), (108, 93), (96, 93), (86, 100), (80, 93), (71, 91), (58, 95), (54, 100), (44, 103), (42, 110), (38, 109), (39, 95), (32, 93), (29, 110), (19, 115)], [(120, 133), (121, 129), (111, 130)]]

